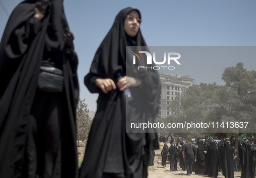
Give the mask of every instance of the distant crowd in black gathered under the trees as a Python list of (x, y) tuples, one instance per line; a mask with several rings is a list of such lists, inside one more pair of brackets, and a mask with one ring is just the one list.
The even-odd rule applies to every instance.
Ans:
[[(170, 171), (187, 170), (191, 175), (207, 175), (216, 178), (221, 172), (225, 178), (234, 178), (234, 172), (238, 172), (238, 165), (241, 169), (241, 178), (254, 178), (256, 176), (256, 145), (253, 140), (240, 142), (238, 147), (230, 146), (230, 140), (222, 140), (222, 143), (215, 143), (212, 138), (206, 144), (200, 141), (198, 146), (193, 146), (192, 141), (188, 144), (180, 142), (168, 148), (164, 143), (161, 151), (162, 166), (166, 167), (166, 160), (170, 162)], [(168, 150), (168, 151), (167, 151)], [(239, 153), (239, 154), (238, 154)]]

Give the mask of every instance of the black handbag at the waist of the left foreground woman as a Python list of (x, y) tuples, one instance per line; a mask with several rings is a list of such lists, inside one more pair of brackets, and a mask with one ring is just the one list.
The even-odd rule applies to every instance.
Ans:
[(62, 92), (64, 86), (63, 71), (51, 66), (40, 66), (37, 86), (45, 92)]

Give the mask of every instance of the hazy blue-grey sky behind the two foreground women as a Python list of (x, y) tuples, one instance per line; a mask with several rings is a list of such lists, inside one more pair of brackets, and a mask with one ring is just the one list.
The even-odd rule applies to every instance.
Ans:
[[(10, 14), (21, 0), (1, 2)], [(247, 70), (256, 70), (255, 48), (232, 47), (230, 51), (227, 47), (203, 48), (256, 46), (255, 0), (65, 0), (64, 3), (79, 57), (80, 95), (81, 99), (86, 99), (90, 110), (96, 111), (97, 94), (88, 92), (84, 76), (115, 16), (127, 6), (141, 11), (141, 31), (149, 46), (200, 46), (185, 48), (186, 51), (194, 49), (193, 55), (191, 53), (190, 59), (186, 53), (185, 60), (181, 53), (181, 66), (172, 71), (174, 75), (189, 75), (198, 84), (224, 85), (221, 74), (226, 67), (243, 62)], [(0, 7), (1, 35), (7, 20), (8, 16)], [(177, 52), (176, 49), (173, 47), (174, 51), (167, 52)]]

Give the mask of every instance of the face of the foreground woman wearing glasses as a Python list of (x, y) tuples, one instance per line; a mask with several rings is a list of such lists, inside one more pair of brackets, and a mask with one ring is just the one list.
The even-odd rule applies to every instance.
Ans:
[(139, 31), (140, 19), (139, 14), (132, 10), (130, 13), (127, 14), (123, 28), (127, 35), (134, 37), (137, 35)]

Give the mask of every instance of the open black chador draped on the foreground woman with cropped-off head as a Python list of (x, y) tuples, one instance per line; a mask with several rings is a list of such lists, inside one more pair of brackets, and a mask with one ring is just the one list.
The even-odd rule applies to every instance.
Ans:
[[(0, 43), (0, 177), (19, 177), (22, 174), (28, 118), (31, 117), (45, 47), (58, 53), (65, 80), (62, 173), (77, 176), (75, 110), (79, 92), (78, 59), (73, 48), (70, 54), (63, 53), (64, 39), (60, 38), (63, 35), (60, 33), (67, 22), (62, 3), (62, 0), (53, 0), (52, 7), (42, 19), (41, 29), (33, 38), (24, 40), (26, 22), (33, 17), (36, 7), (36, 0), (25, 0), (13, 10), (3, 32)], [(62, 18), (62, 25), (51, 27), (53, 21), (60, 21), (59, 18)], [(53, 32), (51, 37), (49, 31)]]

